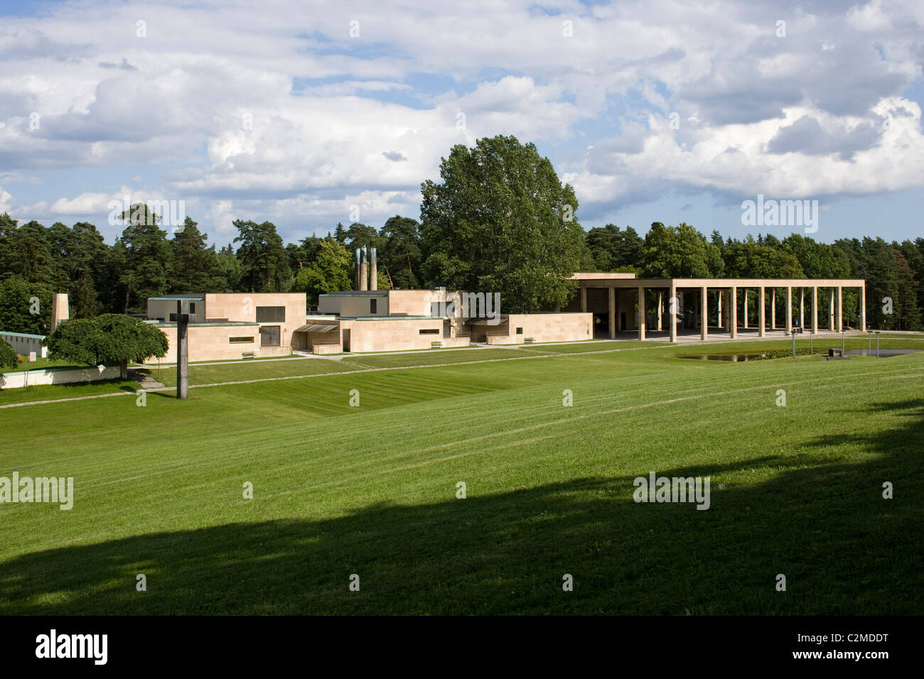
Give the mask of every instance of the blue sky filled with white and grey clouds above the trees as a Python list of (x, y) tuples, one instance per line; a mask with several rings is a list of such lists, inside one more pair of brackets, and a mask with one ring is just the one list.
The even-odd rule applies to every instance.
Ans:
[[(224, 245), (419, 217), (454, 144), (532, 141), (585, 228), (924, 236), (924, 2), (0, 0), (0, 212), (183, 200)], [(178, 204), (178, 203), (177, 203)]]

